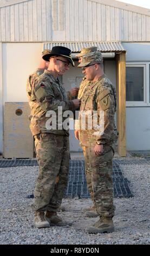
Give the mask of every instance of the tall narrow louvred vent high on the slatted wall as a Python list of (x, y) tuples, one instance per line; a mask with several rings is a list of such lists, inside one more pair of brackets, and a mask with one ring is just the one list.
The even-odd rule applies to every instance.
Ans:
[(65, 29), (65, 1), (53, 0), (53, 30), (64, 31)]

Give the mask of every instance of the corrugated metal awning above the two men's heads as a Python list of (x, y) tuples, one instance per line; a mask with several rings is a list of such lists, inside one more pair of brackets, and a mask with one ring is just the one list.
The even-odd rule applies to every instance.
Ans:
[(101, 52), (126, 52), (121, 42), (47, 42), (44, 43), (44, 50), (54, 46), (68, 47), (73, 53), (80, 52), (82, 48), (97, 46)]

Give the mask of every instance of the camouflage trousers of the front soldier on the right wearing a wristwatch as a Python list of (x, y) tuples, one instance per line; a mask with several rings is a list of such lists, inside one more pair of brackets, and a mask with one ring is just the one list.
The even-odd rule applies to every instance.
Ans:
[(113, 217), (113, 149), (104, 145), (104, 153), (96, 156), (93, 149), (96, 142), (83, 147), (86, 166), (87, 186), (99, 216)]

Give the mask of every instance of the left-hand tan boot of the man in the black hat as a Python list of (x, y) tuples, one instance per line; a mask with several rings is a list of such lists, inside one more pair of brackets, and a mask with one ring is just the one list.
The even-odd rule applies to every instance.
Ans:
[(36, 228), (49, 228), (49, 222), (45, 220), (44, 212), (36, 211), (34, 215), (34, 223)]

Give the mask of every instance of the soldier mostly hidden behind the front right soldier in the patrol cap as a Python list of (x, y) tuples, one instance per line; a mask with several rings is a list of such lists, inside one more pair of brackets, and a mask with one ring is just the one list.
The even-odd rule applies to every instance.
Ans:
[[(79, 54), (77, 54), (76, 57), (79, 58), (79, 63), (82, 62), (82, 57), (86, 56), (86, 54), (90, 53), (90, 52), (95, 52), (97, 51), (97, 47), (92, 46), (92, 47), (88, 47), (88, 48), (82, 48), (81, 52)], [(79, 89), (79, 93), (77, 96), (77, 99), (82, 99), (82, 96), (84, 95), (84, 92), (86, 91), (86, 88), (89, 86), (91, 81), (88, 81), (86, 79), (86, 77), (83, 78), (83, 81), (80, 84), (80, 89)], [(76, 139), (79, 139), (79, 131), (75, 130), (75, 137)], [(83, 154), (85, 157), (86, 154), (86, 150), (85, 147), (82, 146), (83, 149)], [(91, 179), (89, 176), (89, 160), (87, 159), (86, 163), (85, 163), (85, 171), (86, 171), (86, 178), (87, 178), (87, 186), (88, 186), (88, 190), (90, 192), (90, 196), (93, 200), (93, 189), (92, 189), (92, 183), (91, 183)], [(90, 206), (90, 208), (84, 208), (84, 216), (85, 217), (97, 217), (97, 212), (96, 212), (96, 206), (94, 205), (94, 200), (93, 200), (93, 205)]]

